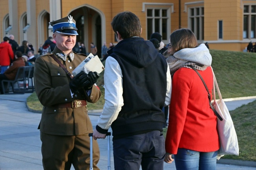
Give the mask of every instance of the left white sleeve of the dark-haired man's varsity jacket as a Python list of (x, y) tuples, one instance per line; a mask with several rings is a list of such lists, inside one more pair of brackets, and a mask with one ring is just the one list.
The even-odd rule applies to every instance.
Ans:
[(111, 56), (106, 59), (105, 63), (104, 87), (105, 104), (97, 125), (102, 129), (109, 129), (124, 105), (122, 71), (117, 60)]

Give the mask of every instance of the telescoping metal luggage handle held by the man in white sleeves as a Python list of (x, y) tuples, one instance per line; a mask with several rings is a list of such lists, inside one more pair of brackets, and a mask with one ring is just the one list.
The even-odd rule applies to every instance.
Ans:
[[(108, 132), (106, 136), (108, 136), (108, 170), (111, 170), (110, 167), (110, 135), (111, 132)], [(93, 170), (93, 133), (89, 133), (90, 137), (90, 170)]]

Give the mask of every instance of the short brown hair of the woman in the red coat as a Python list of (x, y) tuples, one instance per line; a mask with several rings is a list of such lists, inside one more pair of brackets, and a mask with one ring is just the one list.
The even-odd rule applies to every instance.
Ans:
[(197, 37), (187, 28), (181, 28), (170, 35), (170, 43), (174, 52), (184, 48), (195, 48), (198, 46)]

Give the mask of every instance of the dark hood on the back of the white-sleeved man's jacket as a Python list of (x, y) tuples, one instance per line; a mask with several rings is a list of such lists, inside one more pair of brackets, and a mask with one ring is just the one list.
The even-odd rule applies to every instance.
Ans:
[(108, 51), (116, 53), (120, 57), (132, 62), (138, 67), (147, 67), (158, 57), (158, 51), (150, 41), (145, 41), (140, 37), (131, 37), (121, 40), (114, 48)]

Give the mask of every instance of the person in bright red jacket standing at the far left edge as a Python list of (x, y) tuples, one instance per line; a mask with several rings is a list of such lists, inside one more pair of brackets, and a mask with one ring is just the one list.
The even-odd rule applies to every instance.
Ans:
[(9, 44), (9, 38), (4, 37), (4, 41), (0, 43), (0, 66), (1, 66), (1, 74), (6, 71), (6, 69), (11, 64), (11, 61), (14, 58), (13, 49)]

